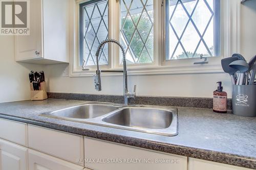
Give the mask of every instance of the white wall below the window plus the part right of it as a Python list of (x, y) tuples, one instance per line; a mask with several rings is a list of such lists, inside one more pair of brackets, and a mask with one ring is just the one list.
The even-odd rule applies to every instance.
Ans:
[[(242, 25), (242, 55), (249, 60), (256, 54), (256, 1), (249, 0), (241, 7)], [(63, 77), (62, 72), (68, 65), (47, 66), (49, 91), (92, 93), (92, 94), (122, 94), (122, 77), (102, 77), (102, 91), (94, 90), (92, 77), (69, 78)], [(231, 82), (227, 74), (183, 74), (129, 76), (129, 88), (137, 85), (138, 95), (212, 97), (216, 90), (216, 82), (222, 81), (224, 90), (231, 98)]]

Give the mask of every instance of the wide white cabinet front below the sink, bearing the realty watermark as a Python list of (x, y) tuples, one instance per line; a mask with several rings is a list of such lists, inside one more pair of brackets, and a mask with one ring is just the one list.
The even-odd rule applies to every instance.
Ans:
[(85, 166), (96, 170), (187, 170), (187, 157), (184, 156), (153, 152), (87, 137), (84, 138), (84, 152)]

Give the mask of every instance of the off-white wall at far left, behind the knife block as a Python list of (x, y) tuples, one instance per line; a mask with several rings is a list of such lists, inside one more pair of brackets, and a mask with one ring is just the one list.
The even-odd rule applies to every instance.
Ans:
[(31, 69), (42, 66), (15, 62), (13, 36), (0, 36), (0, 103), (30, 99)]

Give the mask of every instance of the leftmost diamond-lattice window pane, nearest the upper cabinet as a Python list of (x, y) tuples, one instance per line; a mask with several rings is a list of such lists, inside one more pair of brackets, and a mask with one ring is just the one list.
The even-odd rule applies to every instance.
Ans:
[[(108, 1), (99, 1), (97, 3), (81, 4), (82, 18), (82, 38), (80, 37), (80, 65), (83, 60), (86, 66), (96, 65), (96, 51), (99, 43), (108, 39)], [(108, 44), (104, 45), (99, 56), (100, 65), (108, 65)]]

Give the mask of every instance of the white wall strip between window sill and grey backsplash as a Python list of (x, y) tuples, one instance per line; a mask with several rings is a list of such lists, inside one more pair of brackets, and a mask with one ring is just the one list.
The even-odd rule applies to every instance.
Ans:
[[(47, 73), (55, 72), (50, 77), (49, 90), (52, 92), (72, 92), (90, 94), (119, 94), (123, 92), (122, 77), (102, 77), (102, 91), (94, 89), (93, 77), (69, 78), (61, 77), (56, 71), (68, 65), (47, 66)], [(209, 97), (216, 89), (217, 81), (223, 81), (224, 86), (229, 85), (229, 76), (226, 74), (191, 74), (191, 75), (153, 75), (153, 76), (129, 76), (129, 88), (137, 85), (137, 95), (160, 95), (160, 96), (196, 96)], [(230, 91), (230, 89), (225, 88)]]

